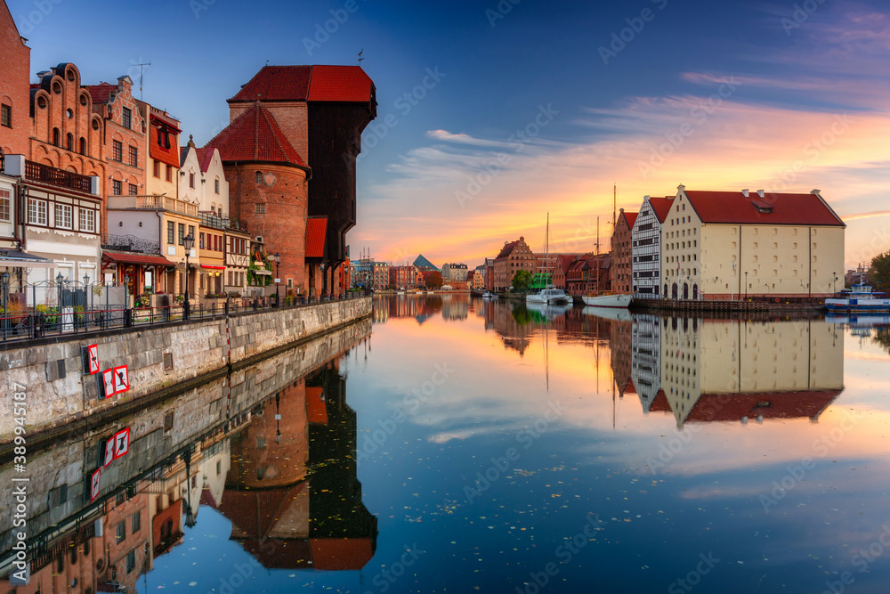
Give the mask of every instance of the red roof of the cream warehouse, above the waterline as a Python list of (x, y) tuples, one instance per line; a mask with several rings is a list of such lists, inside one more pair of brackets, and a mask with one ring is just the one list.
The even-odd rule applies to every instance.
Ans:
[(839, 216), (815, 194), (765, 194), (763, 202), (773, 207), (762, 212), (756, 192), (684, 191), (702, 223), (801, 224), (846, 226)]

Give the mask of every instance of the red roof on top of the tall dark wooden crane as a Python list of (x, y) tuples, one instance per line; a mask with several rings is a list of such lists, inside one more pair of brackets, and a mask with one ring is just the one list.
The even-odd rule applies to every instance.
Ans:
[(265, 66), (230, 102), (370, 102), (374, 83), (358, 66)]

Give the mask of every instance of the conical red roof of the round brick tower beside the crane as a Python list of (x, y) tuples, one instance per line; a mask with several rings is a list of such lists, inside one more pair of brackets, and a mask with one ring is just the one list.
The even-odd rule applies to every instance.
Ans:
[(289, 163), (309, 168), (287, 141), (269, 110), (260, 103), (255, 103), (242, 113), (223, 132), (207, 142), (205, 148), (220, 151), (223, 161)]

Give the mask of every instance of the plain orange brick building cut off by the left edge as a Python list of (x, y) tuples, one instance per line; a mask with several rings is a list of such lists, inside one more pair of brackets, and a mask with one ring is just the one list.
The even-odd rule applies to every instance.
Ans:
[(31, 133), (28, 80), (31, 49), (25, 45), (6, 3), (0, 8), (0, 151), (28, 155)]

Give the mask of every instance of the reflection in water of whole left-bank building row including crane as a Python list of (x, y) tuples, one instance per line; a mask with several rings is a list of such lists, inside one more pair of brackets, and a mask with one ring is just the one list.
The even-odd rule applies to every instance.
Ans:
[[(284, 359), (264, 363), (277, 375), (261, 363), (240, 395), (247, 408), (231, 419), (221, 405), (226, 382), (136, 413), (130, 452), (103, 469), (103, 484), (116, 486), (93, 503), (80, 476), (96, 468), (107, 435), (32, 454), (30, 583), (9, 582), (14, 528), (4, 517), (0, 591), (135, 591), (206, 507), (231, 520), (231, 538), (263, 566), (360, 569), (374, 555), (377, 524), (361, 502), (356, 415), (336, 361), (262, 401), (276, 378), (298, 376), (280, 371)], [(11, 466), (0, 468), (6, 484), (11, 476)]]

